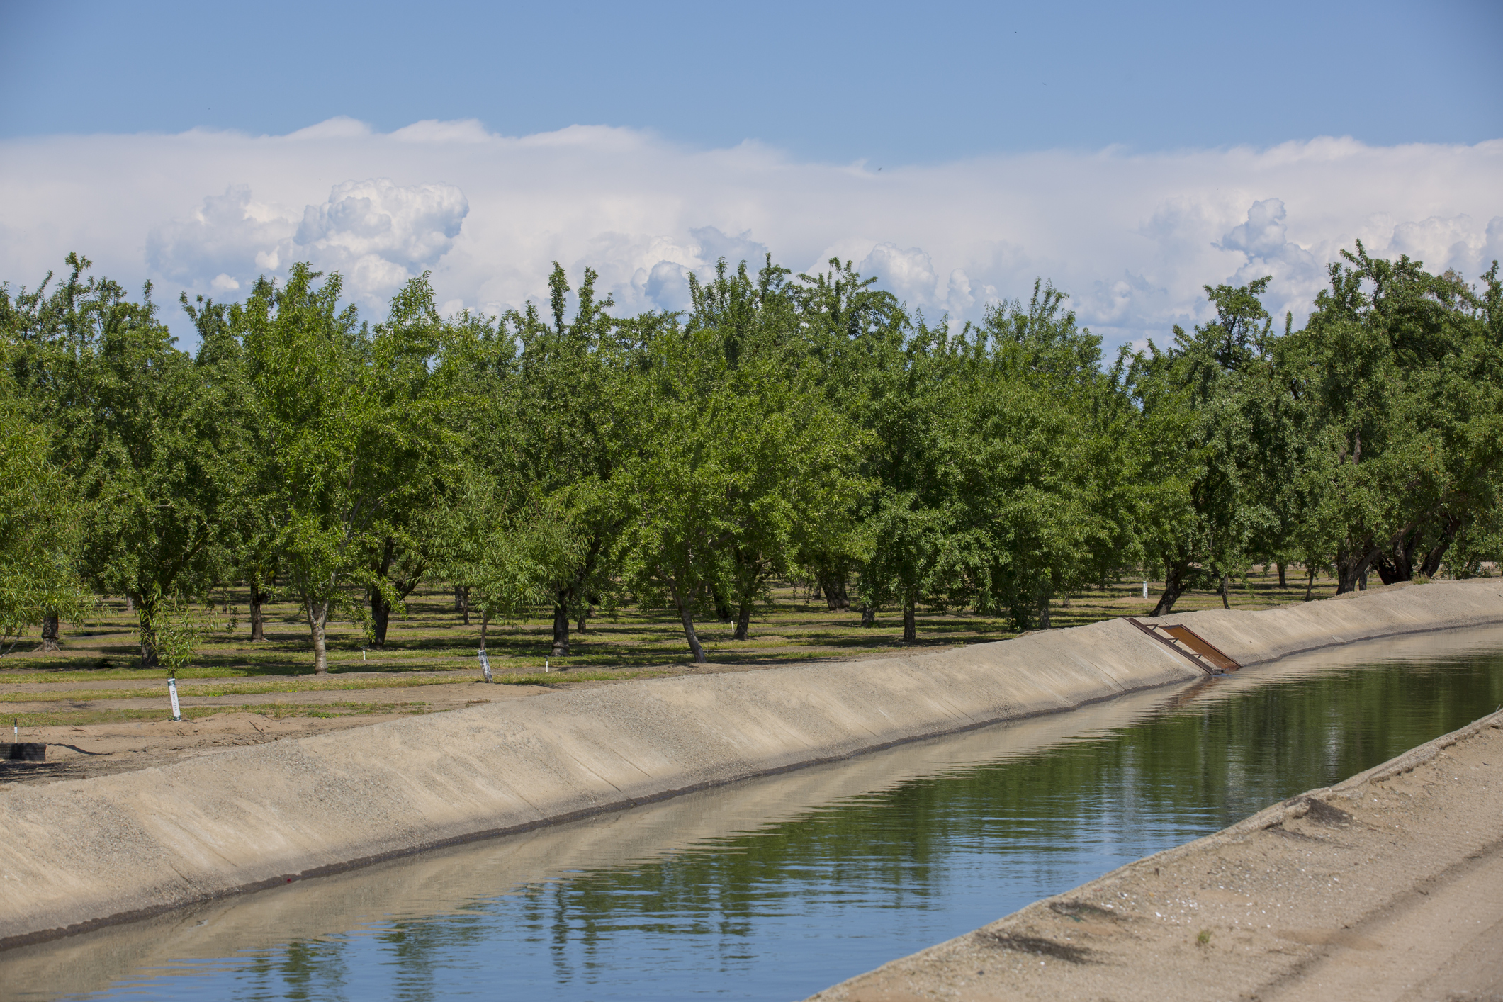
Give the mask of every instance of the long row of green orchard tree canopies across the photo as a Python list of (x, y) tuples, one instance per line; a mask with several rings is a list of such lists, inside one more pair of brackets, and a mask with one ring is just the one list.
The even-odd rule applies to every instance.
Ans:
[[(280, 589), (316, 672), (332, 616), (383, 644), (422, 583), (493, 617), (550, 610), (565, 655), (622, 598), (745, 640), (777, 580), (870, 623), (974, 608), (1049, 626), (1123, 577), (1225, 596), (1254, 563), (1339, 590), (1503, 554), (1503, 291), (1357, 243), (1306, 324), (1270, 278), (1105, 358), (1046, 281), (980, 323), (909, 311), (849, 261), (720, 261), (690, 306), (618, 315), (585, 269), (547, 303), (440, 315), (427, 275), (367, 320), (337, 273), (182, 300), (176, 347), (69, 255), (0, 287), (0, 634), (129, 596)], [(467, 619), (466, 619), (467, 622)], [(45, 632), (45, 631), (44, 631)], [(165, 643), (165, 640), (162, 640)]]

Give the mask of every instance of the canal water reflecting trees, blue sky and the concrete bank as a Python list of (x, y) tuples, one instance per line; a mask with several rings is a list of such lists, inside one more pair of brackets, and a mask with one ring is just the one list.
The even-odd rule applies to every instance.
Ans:
[(1503, 705), (1353, 644), (0, 954), (18, 999), (801, 999)]

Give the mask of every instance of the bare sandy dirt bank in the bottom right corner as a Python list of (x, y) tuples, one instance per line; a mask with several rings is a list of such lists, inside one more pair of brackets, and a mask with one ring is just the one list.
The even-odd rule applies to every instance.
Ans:
[(812, 1002), (1503, 1002), (1503, 714)]

